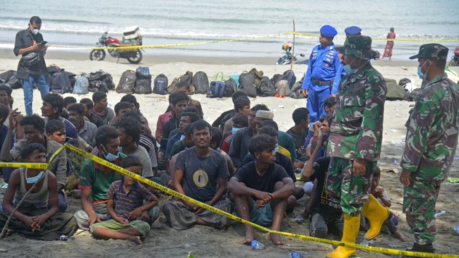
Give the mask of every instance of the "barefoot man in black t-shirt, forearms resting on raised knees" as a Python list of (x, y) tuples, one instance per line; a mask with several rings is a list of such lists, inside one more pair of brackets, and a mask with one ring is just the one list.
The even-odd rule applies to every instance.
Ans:
[[(287, 209), (287, 198), (295, 191), (292, 178), (285, 169), (275, 164), (275, 138), (256, 135), (251, 138), (249, 152), (255, 156), (239, 168), (229, 180), (228, 190), (234, 195), (237, 214), (247, 221), (261, 226), (271, 226), (279, 231)], [(254, 228), (246, 227), (243, 244), (250, 244), (255, 238)], [(271, 233), (269, 239), (275, 245), (284, 245), (280, 235)]]

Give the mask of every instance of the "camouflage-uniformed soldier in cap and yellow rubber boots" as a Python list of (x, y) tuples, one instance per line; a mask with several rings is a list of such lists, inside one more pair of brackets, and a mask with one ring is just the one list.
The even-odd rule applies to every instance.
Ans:
[[(388, 209), (368, 194), (381, 153), (387, 92), (383, 76), (369, 63), (375, 56), (370, 37), (347, 37), (342, 61), (346, 75), (338, 88), (327, 147), (331, 157), (327, 192), (339, 200), (344, 214), (342, 242), (355, 242), (360, 214), (370, 221), (367, 240), (378, 235), (389, 216)], [(326, 257), (350, 257), (355, 253), (354, 248), (339, 246)]]

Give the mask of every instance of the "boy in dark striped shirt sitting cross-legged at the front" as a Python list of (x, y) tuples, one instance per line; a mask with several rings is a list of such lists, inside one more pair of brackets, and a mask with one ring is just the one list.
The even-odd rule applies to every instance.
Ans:
[[(136, 156), (127, 156), (123, 167), (140, 175), (142, 162)], [(158, 204), (155, 195), (138, 180), (124, 176), (110, 185), (107, 196), (107, 211), (112, 219), (94, 223), (90, 233), (100, 238), (131, 240), (142, 244), (142, 240), (145, 240), (150, 231), (150, 225), (139, 220), (139, 217), (143, 211), (148, 211)]]

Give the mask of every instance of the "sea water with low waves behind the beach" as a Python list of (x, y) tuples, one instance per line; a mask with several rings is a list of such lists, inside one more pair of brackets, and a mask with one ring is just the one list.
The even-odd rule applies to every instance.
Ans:
[[(13, 44), (16, 32), (28, 26), (31, 16), (43, 20), (42, 34), (54, 47), (92, 47), (103, 32), (121, 37), (125, 27), (138, 25), (143, 44), (177, 44), (209, 42), (273, 35), (293, 30), (318, 34), (324, 24), (345, 36), (345, 27), (358, 25), (362, 34), (385, 38), (394, 27), (398, 39), (459, 40), (457, 0), (172, 0), (172, 1), (9, 1), (0, 0), (0, 43)], [(241, 56), (277, 59), (282, 43), (292, 35), (266, 39), (244, 40), (147, 49), (147, 54), (192, 56)], [(441, 42), (453, 54), (459, 42)], [(336, 44), (344, 39), (336, 38)], [(407, 60), (427, 42), (395, 42), (393, 59)], [(309, 56), (318, 44), (318, 37), (296, 39), (296, 54)], [(386, 41), (374, 40), (373, 47), (383, 53)]]

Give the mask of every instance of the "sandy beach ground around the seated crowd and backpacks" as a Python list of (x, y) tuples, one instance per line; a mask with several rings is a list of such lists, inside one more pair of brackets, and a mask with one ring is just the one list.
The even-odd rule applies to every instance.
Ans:
[[(19, 58), (13, 56), (11, 49), (0, 49), (0, 73), (6, 70), (16, 70)], [(232, 73), (242, 73), (244, 70), (257, 68), (263, 70), (269, 78), (277, 73), (283, 73), (290, 66), (276, 66), (275, 59), (239, 59), (239, 58), (210, 58), (210, 57), (193, 57), (193, 56), (155, 56), (146, 55), (141, 65), (132, 65), (126, 60), (116, 59), (107, 56), (106, 61), (89, 61), (89, 51), (49, 51), (47, 54), (47, 66), (56, 65), (65, 68), (71, 73), (90, 73), (97, 70), (104, 70), (113, 77), (115, 85), (118, 84), (121, 73), (124, 70), (136, 70), (138, 66), (148, 66), (153, 78), (164, 73), (169, 78), (169, 82), (175, 77), (184, 74), (187, 70), (193, 73), (204, 71), (209, 78), (213, 78), (217, 72), (222, 71), (225, 78)], [(417, 87), (420, 86), (420, 80), (417, 77), (417, 62), (415, 61), (374, 61), (374, 67), (383, 74), (385, 78), (400, 80), (410, 78)], [(298, 80), (306, 71), (307, 66), (304, 64), (294, 65), (293, 70)], [(453, 68), (456, 73), (459, 69)], [(73, 96), (76, 99), (85, 97), (90, 98), (92, 93), (76, 95), (64, 94), (64, 97)], [(109, 106), (114, 107), (123, 94), (117, 94), (114, 91), (109, 92)], [(24, 99), (22, 90), (13, 90), (14, 105), (25, 113)], [(167, 95), (136, 94), (136, 98), (141, 105), (141, 111), (148, 118), (148, 123), (152, 132), (156, 129), (157, 117), (167, 109)], [(203, 94), (193, 94), (191, 98), (197, 99), (203, 106), (205, 120), (212, 123), (220, 113), (232, 109), (231, 99), (209, 99)], [(274, 120), (278, 123), (280, 130), (288, 130), (294, 124), (292, 121), (292, 112), (298, 107), (305, 106), (305, 99), (275, 98), (275, 97), (257, 97), (251, 99), (251, 105), (263, 103), (274, 109)], [(408, 238), (407, 242), (400, 242), (388, 233), (381, 233), (374, 246), (395, 248), (405, 250), (411, 247), (413, 236), (408, 232), (405, 215), (401, 211), (403, 202), (403, 185), (399, 182), (399, 176), (389, 170), (401, 171), (398, 166), (400, 157), (403, 154), (405, 139), (405, 121), (408, 118), (408, 111), (414, 102), (406, 101), (386, 101), (384, 113), (384, 135), (383, 148), (379, 166), (383, 171), (381, 173), (380, 185), (388, 191), (393, 199), (391, 211), (400, 218), (399, 230)], [(40, 113), (42, 102), (40, 93), (34, 91), (33, 110)], [(456, 156), (458, 153), (456, 152)], [(451, 177), (459, 177), (459, 160), (455, 159), (453, 168), (451, 168)], [(301, 182), (297, 183), (301, 185)], [(0, 190), (0, 199), (3, 197), (4, 190)], [(167, 197), (161, 197), (160, 204), (164, 203)], [(434, 244), (436, 252), (447, 254), (459, 254), (458, 240), (459, 236), (453, 235), (454, 226), (459, 225), (459, 185), (453, 185), (445, 182), (442, 185), (439, 201), (436, 203), (437, 212), (446, 211), (446, 214), (438, 217), (437, 222), (437, 240)], [(69, 212), (81, 209), (80, 201), (68, 197)], [(303, 211), (307, 202), (307, 197), (300, 201), (300, 205), (294, 209), (294, 213), (287, 216), (282, 223), (282, 231), (309, 235), (309, 223), (297, 224), (292, 221), (294, 216)], [(0, 257), (186, 257), (191, 251), (195, 257), (289, 257), (290, 251), (300, 252), (304, 257), (324, 257), (327, 252), (332, 250), (331, 245), (325, 245), (316, 242), (305, 242), (294, 238), (284, 239), (287, 245), (276, 247), (268, 241), (266, 233), (258, 232), (258, 240), (266, 245), (264, 250), (251, 250), (249, 246), (240, 244), (244, 238), (244, 226), (239, 223), (232, 223), (227, 231), (217, 231), (214, 228), (204, 226), (195, 226), (187, 231), (174, 231), (165, 224), (165, 217), (155, 222), (150, 235), (145, 240), (144, 245), (135, 245), (131, 242), (121, 240), (94, 240), (86, 232), (79, 232), (74, 235), (71, 242), (42, 242), (28, 240), (17, 234), (4, 238), (0, 241)], [(358, 237), (362, 240), (362, 232)], [(358, 251), (358, 257), (390, 257), (387, 254), (378, 254), (373, 252)]]

